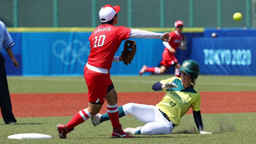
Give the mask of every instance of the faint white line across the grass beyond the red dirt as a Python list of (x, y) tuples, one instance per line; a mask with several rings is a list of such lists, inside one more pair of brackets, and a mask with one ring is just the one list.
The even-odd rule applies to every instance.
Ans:
[[(84, 79), (64, 78), (64, 77), (8, 77), (11, 80), (40, 80), (40, 81), (83, 81)], [(127, 82), (127, 83), (150, 83), (154, 84), (154, 80), (113, 80), (113, 82)], [(241, 83), (241, 82), (196, 82), (198, 85), (230, 85), (230, 86), (256, 86), (256, 83)]]

